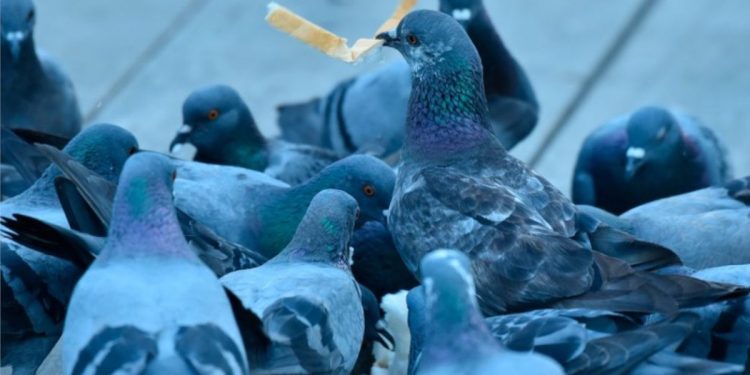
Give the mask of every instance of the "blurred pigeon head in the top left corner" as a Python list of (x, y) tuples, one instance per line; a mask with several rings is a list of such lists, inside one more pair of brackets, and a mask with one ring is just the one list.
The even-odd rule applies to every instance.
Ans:
[[(2, 0), (2, 49), (4, 56), (18, 61), (22, 53), (34, 53), (36, 12), (31, 0)], [(8, 55), (6, 55), (6, 53)], [(3, 58), (3, 63), (8, 61)]]

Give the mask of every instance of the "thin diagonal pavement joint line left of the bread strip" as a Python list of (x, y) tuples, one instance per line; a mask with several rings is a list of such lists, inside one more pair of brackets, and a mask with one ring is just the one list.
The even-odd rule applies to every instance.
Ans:
[(182, 29), (184, 29), (201, 9), (204, 8), (210, 0), (191, 0), (180, 13), (175, 16), (169, 25), (162, 30), (156, 38), (146, 47), (146, 49), (133, 60), (128, 68), (123, 72), (117, 80), (109, 87), (109, 89), (99, 97), (98, 100), (94, 101), (94, 105), (86, 112), (84, 117), (84, 124), (92, 121), (96, 116), (101, 113), (105, 107), (117, 97), (132, 81), (132, 79), (140, 73), (140, 71), (152, 61), (163, 48), (172, 41), (172, 37), (177, 35)]

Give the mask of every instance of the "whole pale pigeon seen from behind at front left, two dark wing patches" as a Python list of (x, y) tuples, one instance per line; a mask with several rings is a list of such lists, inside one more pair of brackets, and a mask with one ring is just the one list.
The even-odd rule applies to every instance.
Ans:
[(163, 156), (126, 163), (107, 244), (70, 300), (66, 374), (249, 373), (230, 299), (180, 231), (173, 179)]

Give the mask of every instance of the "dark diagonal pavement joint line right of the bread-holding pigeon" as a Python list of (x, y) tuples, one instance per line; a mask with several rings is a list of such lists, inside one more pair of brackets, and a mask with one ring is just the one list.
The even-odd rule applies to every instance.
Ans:
[(599, 61), (594, 65), (594, 68), (586, 76), (586, 79), (578, 86), (578, 90), (573, 98), (565, 106), (565, 110), (562, 111), (560, 116), (555, 120), (552, 129), (545, 135), (542, 143), (534, 151), (534, 154), (529, 159), (528, 165), (535, 168), (544, 156), (545, 151), (552, 145), (552, 142), (562, 132), (563, 129), (570, 123), (570, 119), (576, 113), (578, 108), (586, 101), (589, 94), (593, 91), (596, 84), (607, 72), (609, 67), (615, 62), (625, 47), (637, 34), (638, 29), (643, 25), (643, 21), (648, 17), (651, 10), (659, 2), (659, 0), (642, 0), (636, 11), (630, 16), (628, 22), (623, 26), (620, 32), (615, 36), (609, 48), (602, 54)]

